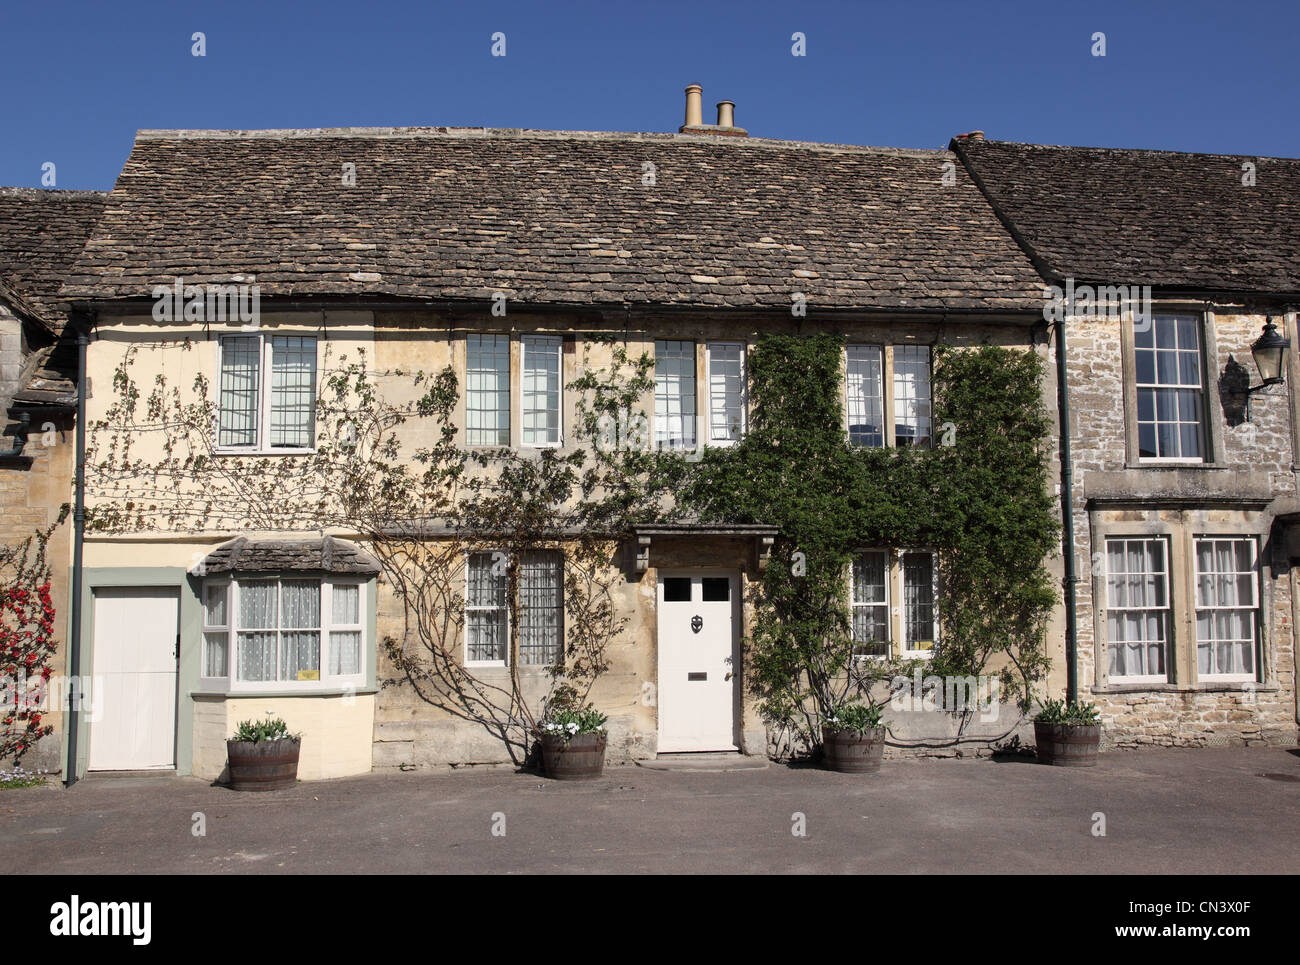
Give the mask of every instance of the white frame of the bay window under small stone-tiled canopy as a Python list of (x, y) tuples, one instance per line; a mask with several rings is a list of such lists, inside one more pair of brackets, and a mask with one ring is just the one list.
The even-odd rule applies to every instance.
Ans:
[[(285, 580), (312, 580), (320, 583), (321, 587), (321, 626), (320, 626), (320, 679), (318, 680), (240, 680), (239, 679), (239, 585), (240, 583), (264, 583), (273, 580), (276, 583), (276, 672), (280, 672), (280, 633), (283, 631), (280, 627), (281, 620), (281, 606), (280, 606), (280, 585)], [(368, 666), (369, 666), (369, 653), (370, 653), (370, 633), (367, 628), (368, 618), (368, 600), (367, 589), (368, 580), (363, 577), (352, 576), (321, 576), (318, 574), (235, 574), (233, 577), (218, 577), (204, 580), (203, 587), (203, 631), (202, 631), (202, 645), (203, 650), (199, 654), (200, 659), (200, 675), (205, 687), (212, 689), (213, 684), (217, 681), (225, 681), (225, 689), (231, 693), (263, 693), (272, 691), (338, 691), (346, 688), (360, 688), (365, 685)], [(207, 593), (208, 587), (224, 585), (226, 587), (226, 626), (225, 627), (208, 627), (207, 626)], [(348, 585), (358, 588), (358, 619), (359, 624), (352, 626), (335, 626), (333, 622), (334, 616), (334, 587)], [(218, 633), (221, 631), (226, 632), (226, 676), (212, 678), (202, 674), (208, 666), (208, 635)], [(330, 633), (334, 631), (360, 631), (361, 633), (361, 652), (358, 661), (356, 674), (330, 674), (329, 672), (329, 648), (330, 648)]]

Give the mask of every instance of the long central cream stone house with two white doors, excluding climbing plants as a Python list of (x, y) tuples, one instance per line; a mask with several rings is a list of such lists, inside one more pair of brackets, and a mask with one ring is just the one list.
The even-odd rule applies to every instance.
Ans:
[[(92, 332), (86, 376), (112, 385), (129, 359), (138, 385), (162, 376), (187, 401), (205, 380), (216, 458), (265, 464), (315, 451), (313, 395), (343, 354), (364, 351), (394, 398), (412, 394), (398, 371), (450, 364), (467, 386), (454, 414), (464, 445), (525, 453), (575, 445), (564, 386), (584, 359), (608, 360), (597, 336), (654, 358), (649, 424), (703, 445), (744, 430), (745, 358), (763, 332), (846, 338), (846, 427), (863, 445), (928, 442), (936, 343), (1045, 358), (1039, 274), (954, 153), (723, 127), (142, 131), (64, 287)], [(177, 286), (208, 285), (255, 285), (256, 316), (159, 312)], [(1054, 399), (1049, 380), (1044, 404)], [(94, 393), (87, 421), (110, 406), (112, 393)], [(162, 451), (148, 433), (138, 445)], [(92, 473), (91, 509), (104, 482)], [(237, 523), (174, 528), (142, 514), (87, 535), (83, 672), (116, 667), (136, 687), (152, 675), (152, 689), (135, 702), (108, 693), (104, 718), (79, 731), (79, 770), (216, 778), (234, 722), (265, 711), (306, 734), (307, 779), (506, 760), (489, 728), (430, 705), (395, 671), (381, 641), (407, 640), (408, 626), (359, 533), (309, 518), (268, 527), (252, 507)], [(628, 632), (593, 691), (611, 718), (611, 760), (766, 753), (740, 639), (770, 537), (763, 527), (629, 535), (612, 590)], [(922, 653), (944, 606), (932, 555), (883, 548), (870, 562), (861, 579), (893, 601), (881, 644)], [(486, 566), (465, 555), (458, 646), (491, 684), (516, 668), (491, 629), (504, 618)], [(545, 655), (555, 561), (528, 579), (542, 618), (526, 640), (521, 631), (521, 653)], [(694, 636), (706, 610), (707, 632)], [(1060, 627), (1052, 639), (1063, 666)], [(540, 693), (542, 657), (520, 662)], [(918, 714), (898, 732), (948, 737), (946, 720)]]

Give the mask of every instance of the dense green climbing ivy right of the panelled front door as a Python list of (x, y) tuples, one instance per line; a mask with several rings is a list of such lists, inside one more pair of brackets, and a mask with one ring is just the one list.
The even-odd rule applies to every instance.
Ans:
[(897, 661), (853, 658), (849, 567), (867, 548), (939, 554), (941, 633), (930, 674), (982, 675), (1028, 700), (1048, 670), (1058, 523), (1046, 492), (1050, 421), (1034, 352), (935, 351), (935, 449), (850, 446), (844, 339), (766, 336), (749, 362), (750, 427), (679, 481), (677, 511), (780, 528), (753, 589), (748, 685), (764, 717), (810, 747), (846, 700), (880, 705)]

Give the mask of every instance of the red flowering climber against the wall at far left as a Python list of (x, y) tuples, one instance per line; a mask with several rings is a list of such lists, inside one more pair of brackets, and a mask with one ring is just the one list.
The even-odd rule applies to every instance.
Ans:
[(56, 650), (46, 544), (57, 525), (0, 545), (0, 761), (14, 765), (55, 730), (43, 697)]

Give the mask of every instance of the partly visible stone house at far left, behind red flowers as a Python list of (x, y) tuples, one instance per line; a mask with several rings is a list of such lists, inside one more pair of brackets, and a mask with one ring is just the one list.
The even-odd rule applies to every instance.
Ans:
[[(60, 341), (66, 306), (58, 287), (104, 207), (99, 191), (0, 187), (0, 545), (17, 546), (53, 525), (72, 502), (75, 456), (75, 359)], [(68, 613), (70, 525), (48, 545), (51, 597)], [(61, 626), (61, 624), (56, 624)], [(66, 633), (52, 670), (61, 674)], [(62, 711), (48, 707), (55, 735), (27, 754), (29, 770), (57, 771)]]

